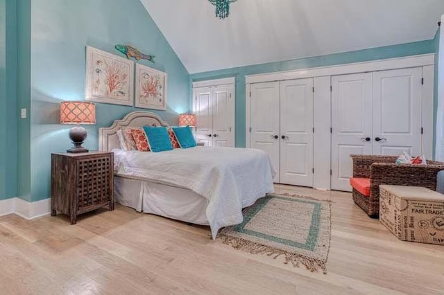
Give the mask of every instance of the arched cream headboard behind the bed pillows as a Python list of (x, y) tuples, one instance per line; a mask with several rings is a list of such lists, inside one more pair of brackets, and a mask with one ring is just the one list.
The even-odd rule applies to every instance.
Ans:
[(123, 119), (115, 120), (111, 127), (99, 128), (99, 150), (110, 152), (113, 149), (120, 148), (117, 130), (121, 127), (144, 127), (145, 125), (169, 127), (167, 122), (154, 113), (133, 111)]

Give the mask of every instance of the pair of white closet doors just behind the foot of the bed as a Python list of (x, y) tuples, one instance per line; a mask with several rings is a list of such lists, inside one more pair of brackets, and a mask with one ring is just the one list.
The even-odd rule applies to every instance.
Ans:
[(250, 146), (268, 153), (276, 183), (313, 186), (313, 79), (250, 89)]

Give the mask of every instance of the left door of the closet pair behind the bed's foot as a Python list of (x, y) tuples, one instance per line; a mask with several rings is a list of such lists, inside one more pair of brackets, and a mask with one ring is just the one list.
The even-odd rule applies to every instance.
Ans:
[[(264, 150), (280, 170), (280, 83), (251, 84), (250, 87), (250, 146)], [(279, 173), (275, 182), (280, 182)]]

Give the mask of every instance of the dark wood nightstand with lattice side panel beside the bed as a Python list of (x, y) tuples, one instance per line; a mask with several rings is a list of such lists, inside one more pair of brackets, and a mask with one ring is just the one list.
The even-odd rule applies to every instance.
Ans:
[(114, 154), (51, 154), (51, 216), (77, 215), (109, 206), (114, 210)]

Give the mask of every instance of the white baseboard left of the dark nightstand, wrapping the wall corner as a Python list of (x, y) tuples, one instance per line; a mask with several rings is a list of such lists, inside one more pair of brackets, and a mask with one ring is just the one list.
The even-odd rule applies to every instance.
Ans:
[(42, 199), (37, 202), (27, 202), (24, 199), (14, 197), (0, 201), (0, 216), (15, 213), (26, 220), (51, 213), (51, 199)]

